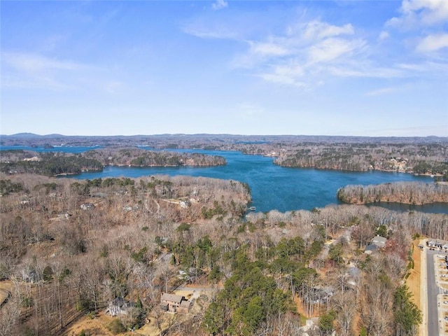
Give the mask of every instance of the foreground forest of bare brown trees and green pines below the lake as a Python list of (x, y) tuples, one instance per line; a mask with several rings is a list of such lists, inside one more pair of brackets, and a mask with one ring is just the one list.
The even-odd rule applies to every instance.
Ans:
[[(443, 214), (344, 205), (244, 216), (250, 190), (237, 181), (0, 180), (2, 336), (71, 335), (117, 298), (135, 309), (103, 335), (301, 335), (313, 316), (309, 335), (414, 335), (421, 314), (402, 286), (412, 236), (448, 238)], [(365, 255), (379, 233), (386, 248)], [(188, 283), (200, 291), (189, 314), (160, 309), (162, 292)]]

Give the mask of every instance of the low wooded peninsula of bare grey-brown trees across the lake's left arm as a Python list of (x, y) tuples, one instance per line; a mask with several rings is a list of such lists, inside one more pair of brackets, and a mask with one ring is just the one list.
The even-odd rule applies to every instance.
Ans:
[(137, 167), (165, 166), (218, 166), (225, 165), (225, 158), (201, 153), (176, 153), (169, 151), (147, 151), (139, 148), (102, 148), (83, 153), (103, 165), (131, 165)]

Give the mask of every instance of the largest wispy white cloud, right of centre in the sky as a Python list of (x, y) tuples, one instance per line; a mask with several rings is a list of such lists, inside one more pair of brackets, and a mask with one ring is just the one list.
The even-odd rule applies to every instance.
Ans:
[(304, 89), (320, 85), (328, 76), (366, 73), (353, 69), (358, 62), (356, 56), (365, 52), (367, 42), (356, 37), (351, 24), (337, 26), (311, 20), (288, 26), (283, 35), (246, 43), (248, 50), (235, 57), (232, 65), (250, 69), (271, 83)]

